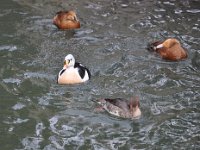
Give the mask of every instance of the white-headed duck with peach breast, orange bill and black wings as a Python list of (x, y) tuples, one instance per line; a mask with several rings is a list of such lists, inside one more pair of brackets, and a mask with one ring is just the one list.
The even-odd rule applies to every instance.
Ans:
[(58, 74), (58, 84), (76, 84), (89, 80), (90, 71), (82, 64), (75, 62), (72, 54), (68, 54), (64, 60), (63, 69)]

